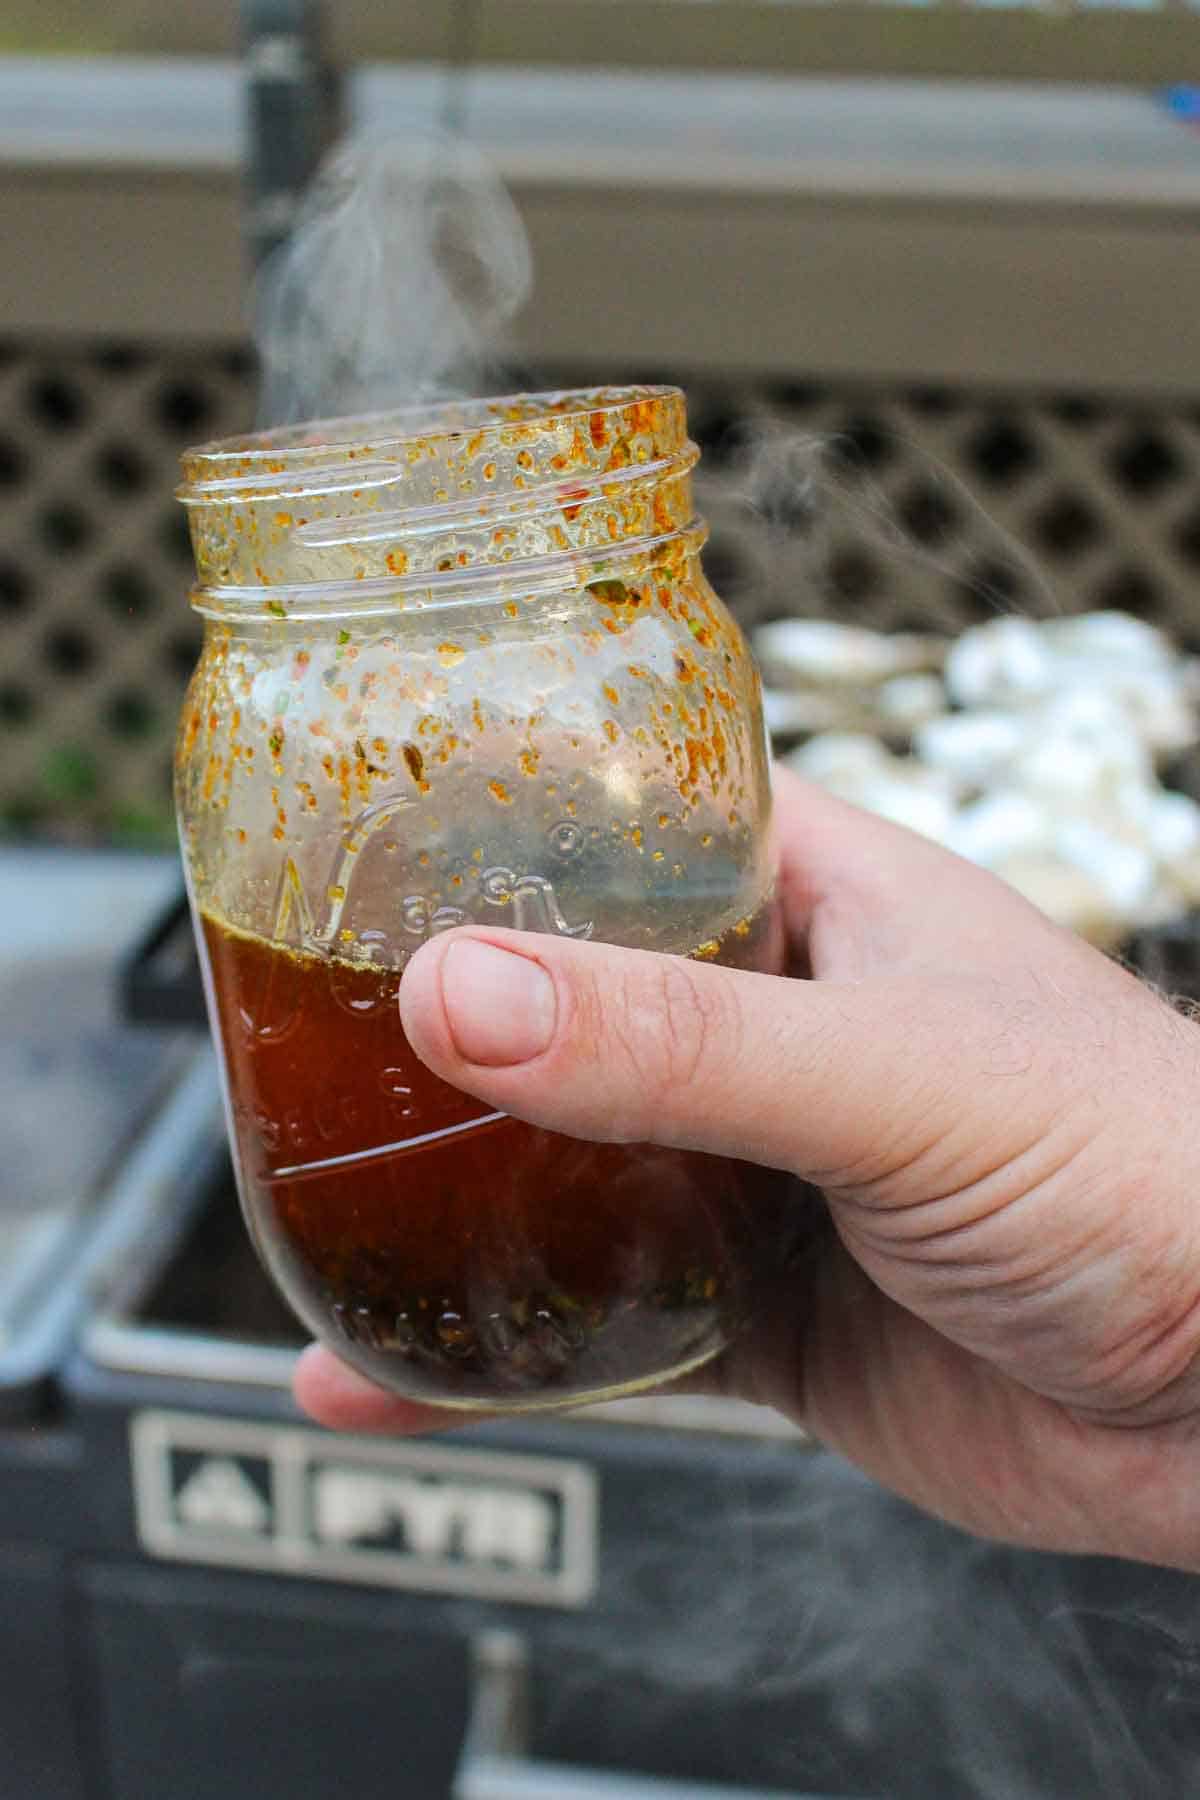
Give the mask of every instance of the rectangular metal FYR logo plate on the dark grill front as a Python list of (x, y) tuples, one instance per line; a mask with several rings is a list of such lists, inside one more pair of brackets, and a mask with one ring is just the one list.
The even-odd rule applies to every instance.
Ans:
[(549, 1606), (592, 1595), (587, 1463), (201, 1413), (144, 1411), (130, 1431), (153, 1555)]

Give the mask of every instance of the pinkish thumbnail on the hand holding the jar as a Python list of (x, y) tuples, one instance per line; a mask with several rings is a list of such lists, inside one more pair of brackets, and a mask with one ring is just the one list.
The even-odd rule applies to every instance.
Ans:
[(464, 1062), (502, 1069), (540, 1057), (554, 1037), (554, 983), (527, 956), (466, 938), (441, 965), (441, 992)]

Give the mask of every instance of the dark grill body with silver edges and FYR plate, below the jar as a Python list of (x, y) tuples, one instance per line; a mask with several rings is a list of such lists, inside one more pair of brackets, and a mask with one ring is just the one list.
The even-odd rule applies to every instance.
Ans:
[(1189, 1791), (1186, 1577), (970, 1543), (739, 1404), (302, 1422), (149, 871), (121, 990), (182, 1062), (0, 1345), (5, 1800)]

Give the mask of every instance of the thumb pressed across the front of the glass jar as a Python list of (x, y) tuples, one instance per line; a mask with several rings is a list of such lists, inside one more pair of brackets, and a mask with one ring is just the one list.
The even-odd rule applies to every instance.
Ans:
[(534, 1125), (829, 1184), (903, 1129), (905, 1071), (936, 1084), (957, 1053), (952, 1026), (948, 1044), (914, 1042), (939, 1035), (928, 990), (921, 1010), (882, 1004), (878, 985), (464, 929), (417, 952), (399, 1010), (430, 1069)]

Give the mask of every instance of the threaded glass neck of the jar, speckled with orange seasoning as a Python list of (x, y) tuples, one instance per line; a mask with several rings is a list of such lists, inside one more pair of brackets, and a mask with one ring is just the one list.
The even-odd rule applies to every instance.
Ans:
[[(198, 589), (214, 616), (448, 605), (583, 587), (691, 549), (676, 387), (596, 387), (290, 425), (184, 455)], [(270, 594), (263, 594), (270, 589)]]

